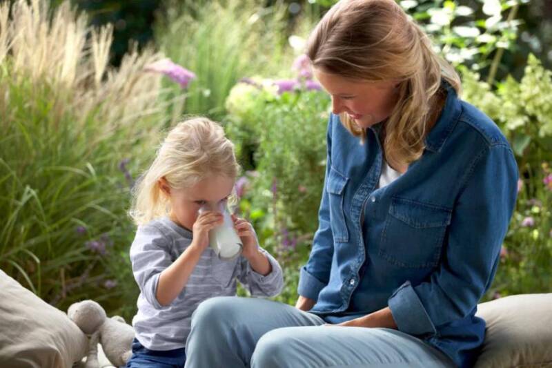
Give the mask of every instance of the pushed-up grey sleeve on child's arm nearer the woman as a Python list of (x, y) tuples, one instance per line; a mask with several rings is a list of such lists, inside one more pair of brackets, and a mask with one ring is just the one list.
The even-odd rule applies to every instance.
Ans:
[(268, 262), (272, 271), (268, 275), (262, 275), (251, 268), (251, 265), (242, 258), (242, 273), (239, 281), (244, 284), (252, 296), (277, 296), (284, 289), (284, 273), (278, 261), (267, 251), (259, 248)]

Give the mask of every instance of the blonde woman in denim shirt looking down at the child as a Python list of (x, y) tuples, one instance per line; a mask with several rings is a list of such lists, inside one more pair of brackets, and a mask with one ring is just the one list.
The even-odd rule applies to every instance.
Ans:
[(307, 55), (333, 114), (299, 300), (200, 305), (186, 367), (470, 367), (515, 204), (508, 142), (393, 0), (339, 1)]

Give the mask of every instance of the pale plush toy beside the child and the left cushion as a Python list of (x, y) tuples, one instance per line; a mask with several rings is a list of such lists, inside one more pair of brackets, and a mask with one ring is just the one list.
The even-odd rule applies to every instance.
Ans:
[[(83, 300), (71, 304), (67, 311), (70, 320), (75, 322), (87, 335), (98, 333), (99, 342), (112, 365), (120, 367), (132, 356), (132, 340), (135, 331), (123, 318), (107, 318), (106, 311), (93, 300)], [(87, 365), (87, 367), (89, 367)]]

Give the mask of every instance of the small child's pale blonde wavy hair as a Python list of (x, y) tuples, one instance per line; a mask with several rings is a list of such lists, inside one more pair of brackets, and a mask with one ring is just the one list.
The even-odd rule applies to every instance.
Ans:
[(135, 187), (130, 216), (146, 224), (170, 212), (170, 201), (161, 191), (164, 178), (170, 188), (190, 188), (210, 175), (233, 180), (239, 173), (234, 144), (223, 128), (205, 117), (193, 117), (177, 124), (157, 151), (153, 163)]

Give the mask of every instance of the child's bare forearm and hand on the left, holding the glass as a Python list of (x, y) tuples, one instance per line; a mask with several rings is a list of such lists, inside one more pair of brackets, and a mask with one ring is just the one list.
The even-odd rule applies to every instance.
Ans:
[(162, 306), (175, 300), (186, 286), (201, 253), (209, 244), (209, 230), (221, 224), (222, 215), (217, 212), (201, 213), (193, 226), (192, 244), (159, 275), (155, 298)]

